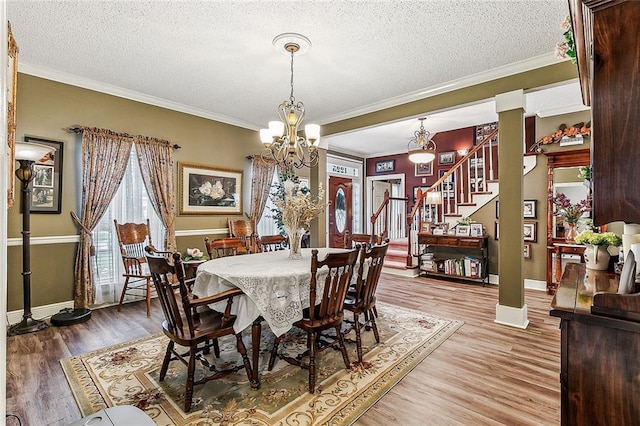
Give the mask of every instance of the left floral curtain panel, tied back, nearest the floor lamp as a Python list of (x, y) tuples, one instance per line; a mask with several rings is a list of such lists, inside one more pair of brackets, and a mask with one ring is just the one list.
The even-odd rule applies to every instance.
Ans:
[(82, 217), (76, 254), (74, 307), (86, 309), (95, 302), (91, 273), (94, 253), (91, 231), (113, 199), (127, 168), (133, 138), (124, 133), (82, 128)]

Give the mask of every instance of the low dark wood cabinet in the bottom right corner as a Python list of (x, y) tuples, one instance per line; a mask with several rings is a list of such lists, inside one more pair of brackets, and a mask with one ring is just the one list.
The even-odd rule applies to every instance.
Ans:
[(551, 303), (561, 319), (564, 426), (640, 421), (640, 294), (617, 289), (615, 274), (573, 263)]

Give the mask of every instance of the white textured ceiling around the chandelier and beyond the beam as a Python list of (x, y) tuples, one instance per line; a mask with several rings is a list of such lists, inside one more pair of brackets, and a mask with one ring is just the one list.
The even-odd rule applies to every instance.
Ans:
[[(568, 7), (566, 0), (9, 0), (7, 12), (21, 72), (258, 129), (289, 96), (289, 57), (271, 44), (280, 33), (311, 40), (295, 59), (295, 96), (307, 122), (326, 124), (514, 62), (552, 63)], [(563, 102), (579, 99), (576, 92)], [(485, 117), (476, 119), (491, 121)], [(442, 121), (450, 119), (443, 127), (479, 124), (454, 112)], [(411, 136), (415, 117), (405, 127)], [(367, 136), (361, 150), (358, 134), (349, 135), (349, 150), (367, 156), (390, 143), (406, 146), (403, 138), (376, 147)], [(330, 147), (340, 138), (327, 138)]]

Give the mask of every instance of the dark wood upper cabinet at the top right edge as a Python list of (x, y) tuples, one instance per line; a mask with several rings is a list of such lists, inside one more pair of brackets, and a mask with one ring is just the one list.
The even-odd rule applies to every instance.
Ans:
[(640, 1), (569, 0), (591, 105), (593, 221), (640, 223)]

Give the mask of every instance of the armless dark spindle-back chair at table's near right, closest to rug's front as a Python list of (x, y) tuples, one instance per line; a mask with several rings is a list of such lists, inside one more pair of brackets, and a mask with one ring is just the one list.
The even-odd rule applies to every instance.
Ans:
[[(278, 354), (278, 346), (286, 333), (276, 337), (271, 356), (269, 358), (268, 369), (271, 371), (275, 365), (276, 357), (283, 359), (290, 364), (297, 365), (309, 370), (309, 392), (314, 393), (316, 388), (316, 355), (329, 347), (338, 346), (342, 353), (342, 359), (347, 369), (350, 368), (349, 355), (344, 345), (344, 338), (341, 331), (342, 319), (344, 318), (344, 300), (349, 288), (349, 282), (355, 267), (358, 250), (350, 250), (342, 253), (329, 253), (323, 260), (318, 260), (318, 250), (311, 251), (311, 282), (309, 290), (309, 306), (303, 311), (302, 319), (293, 325), (307, 332), (307, 351), (299, 354), (296, 358)], [(318, 282), (318, 270), (328, 268), (323, 273), (324, 283)], [(321, 285), (324, 284), (324, 285)], [(320, 293), (318, 293), (320, 291)], [(318, 345), (320, 333), (333, 328), (336, 339), (327, 345)], [(323, 335), (323, 340), (326, 335)], [(309, 363), (303, 364), (302, 358), (308, 356)]]

